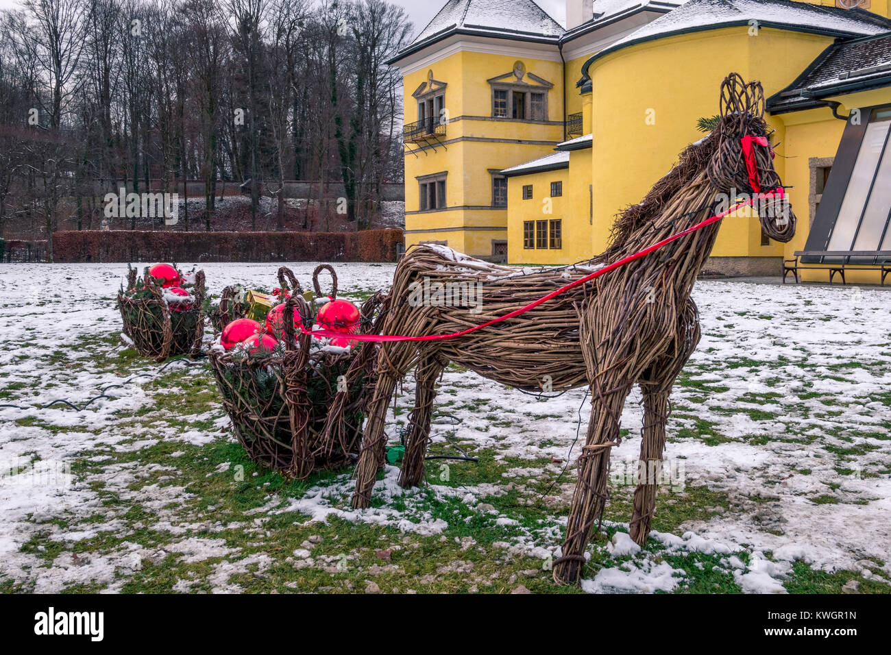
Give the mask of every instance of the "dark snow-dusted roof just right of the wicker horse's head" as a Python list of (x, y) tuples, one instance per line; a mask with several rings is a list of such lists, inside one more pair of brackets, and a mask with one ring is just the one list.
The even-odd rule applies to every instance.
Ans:
[(822, 98), (891, 86), (891, 32), (837, 41), (789, 86), (767, 99), (776, 113), (824, 105)]

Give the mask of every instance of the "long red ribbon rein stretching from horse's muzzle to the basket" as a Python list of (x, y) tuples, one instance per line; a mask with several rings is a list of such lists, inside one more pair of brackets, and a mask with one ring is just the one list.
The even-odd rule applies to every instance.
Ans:
[(489, 325), (494, 325), (495, 323), (501, 323), (502, 321), (507, 321), (508, 319), (511, 319), (515, 316), (519, 316), (520, 314), (525, 314), (526, 312), (530, 311), (531, 309), (538, 307), (542, 303), (545, 303), (548, 300), (557, 298), (557, 296), (560, 296), (560, 295), (566, 293), (567, 291), (570, 291), (571, 289), (575, 289), (580, 284), (584, 284), (585, 282), (591, 282), (593, 279), (600, 277), (601, 275), (608, 274), (610, 271), (616, 270), (619, 266), (625, 266), (625, 264), (629, 264), (629, 263), (633, 262), (635, 259), (640, 259), (642, 257), (646, 257), (651, 252), (658, 250), (658, 249), (666, 246), (667, 244), (674, 242), (683, 236), (686, 236), (687, 234), (694, 233), (697, 230), (701, 230), (703, 227), (706, 227), (707, 225), (712, 225), (713, 223), (716, 223), (717, 221), (721, 220), (722, 218), (729, 216), (730, 214), (735, 212), (737, 209), (752, 205), (752, 203), (756, 200), (756, 198), (758, 200), (762, 200), (765, 198), (771, 198), (774, 196), (777, 198), (782, 198), (783, 194), (784, 194), (784, 190), (782, 187), (777, 187), (776, 189), (774, 189), (771, 192), (757, 193), (756, 196), (749, 198), (747, 201), (742, 201), (742, 202), (734, 205), (732, 208), (721, 212), (720, 214), (715, 214), (715, 216), (709, 217), (706, 220), (702, 221), (701, 223), (698, 223), (696, 225), (692, 225), (691, 227), (688, 227), (686, 230), (683, 230), (682, 232), (672, 234), (671, 236), (667, 237), (666, 239), (663, 239), (660, 242), (654, 243), (653, 245), (651, 245), (643, 250), (638, 250), (634, 254), (628, 255), (625, 258), (621, 258), (618, 261), (615, 261), (612, 264), (609, 264), (609, 266), (603, 266), (602, 268), (599, 268), (596, 271), (594, 271), (592, 274), (585, 275), (584, 277), (580, 277), (575, 282), (569, 282), (566, 286), (562, 286), (562, 287), (560, 287), (560, 289), (557, 289), (556, 291), (552, 291), (551, 293), (547, 294), (546, 296), (543, 296), (540, 299), (530, 302), (525, 307), (519, 307), (519, 309), (515, 309), (512, 312), (510, 312), (509, 314), (505, 314), (503, 316), (498, 316), (497, 318), (493, 318), (491, 321), (486, 321), (486, 323), (479, 323), (478, 325), (469, 327), (466, 330), (462, 330), (461, 332), (452, 332), (450, 334), (430, 334), (428, 336), (421, 336), (421, 337), (407, 337), (407, 336), (399, 336), (399, 335), (395, 335), (395, 334), (345, 334), (343, 332), (335, 332), (333, 330), (307, 330), (307, 328), (302, 324), (300, 325), (300, 332), (303, 332), (304, 334), (311, 334), (312, 336), (314, 336), (318, 339), (321, 339), (321, 338), (347, 339), (350, 341), (443, 341), (443, 340), (449, 340), (449, 339), (457, 339), (458, 337), (463, 337), (467, 334), (470, 334), (471, 332), (477, 332), (478, 330), (482, 330), (483, 328), (486, 328)]

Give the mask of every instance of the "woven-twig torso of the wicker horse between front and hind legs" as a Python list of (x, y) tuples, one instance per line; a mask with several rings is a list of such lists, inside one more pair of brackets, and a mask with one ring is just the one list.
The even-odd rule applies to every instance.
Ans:
[[(435, 329), (449, 334), (526, 307), (590, 274), (593, 268), (499, 266), (425, 244), (400, 264), (413, 274), (416, 301), (436, 307)], [(409, 265), (409, 266), (406, 266)], [(579, 285), (527, 312), (473, 332), (432, 342), (447, 359), (519, 389), (569, 389), (587, 383), (579, 315), (591, 285)]]

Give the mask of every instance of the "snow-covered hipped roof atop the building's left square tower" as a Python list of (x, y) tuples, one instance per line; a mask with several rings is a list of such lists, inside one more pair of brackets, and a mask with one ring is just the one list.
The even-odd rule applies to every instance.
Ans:
[(458, 30), (480, 36), (527, 37), (554, 43), (565, 31), (533, 0), (448, 0), (396, 59)]

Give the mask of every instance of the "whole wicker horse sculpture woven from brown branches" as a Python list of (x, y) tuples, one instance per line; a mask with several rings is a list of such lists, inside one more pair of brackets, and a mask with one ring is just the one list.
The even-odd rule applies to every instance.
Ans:
[[(697, 225), (713, 216), (727, 198), (732, 202), (738, 194), (755, 194), (759, 187), (765, 191), (780, 188), (763, 114), (760, 83), (747, 85), (735, 73), (725, 78), (715, 130), (683, 151), (680, 162), (641, 204), (617, 217), (608, 250), (590, 265), (609, 265)], [(749, 145), (747, 168), (744, 148)], [(787, 242), (795, 233), (795, 216), (781, 192), (768, 197), (770, 200), (758, 207), (761, 226), (772, 239)], [(424, 479), (435, 384), (449, 362), (518, 389), (560, 391), (587, 385), (592, 396), (591, 416), (576, 462), (578, 481), (562, 556), (553, 570), (560, 583), (576, 581), (592, 528), (606, 504), (610, 449), (619, 444), (619, 415), (634, 384), (642, 389), (644, 405), (641, 460), (662, 459), (668, 395), (699, 342), (699, 313), (691, 289), (712, 250), (719, 225), (707, 225), (525, 314), (470, 335), (383, 343), (378, 355), (379, 379), (366, 413), (353, 505), (362, 508), (370, 504), (375, 473), (384, 462), (388, 405), (397, 381), (412, 367), (415, 405), (399, 480), (403, 487), (417, 486)], [(420, 246), (396, 267), (382, 333), (426, 336), (459, 332), (524, 307), (595, 268), (574, 265), (522, 273), (454, 250)], [(462, 295), (471, 301), (458, 306), (453, 302), (448, 307), (432, 298), (427, 303), (413, 302), (419, 290), (441, 291), (450, 283), (462, 291), (475, 291)], [(649, 534), (656, 493), (655, 480), (649, 479), (635, 490), (631, 536), (638, 544)]]

